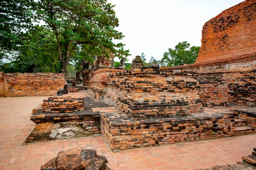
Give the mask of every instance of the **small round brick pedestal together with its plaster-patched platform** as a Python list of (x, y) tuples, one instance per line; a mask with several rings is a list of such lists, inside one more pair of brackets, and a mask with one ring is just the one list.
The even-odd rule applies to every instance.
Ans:
[[(83, 97), (54, 96), (33, 109), (30, 120), (36, 123), (24, 144), (53, 139), (90, 136), (100, 133), (99, 114), (92, 112), (96, 102)], [(105, 103), (97, 105), (106, 107)]]

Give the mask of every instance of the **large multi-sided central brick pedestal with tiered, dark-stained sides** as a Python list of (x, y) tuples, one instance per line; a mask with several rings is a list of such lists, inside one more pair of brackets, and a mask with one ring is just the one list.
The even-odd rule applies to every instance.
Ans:
[(132, 118), (170, 118), (202, 111), (195, 73), (135, 69), (109, 77), (104, 101)]

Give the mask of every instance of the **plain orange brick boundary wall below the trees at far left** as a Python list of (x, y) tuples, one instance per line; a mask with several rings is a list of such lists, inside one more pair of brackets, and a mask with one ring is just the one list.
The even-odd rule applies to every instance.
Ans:
[[(0, 76), (1, 97), (52, 96), (57, 94), (59, 88), (64, 88), (66, 83), (64, 74), (59, 73), (3, 73), (0, 75), (2, 75)], [(1, 89), (4, 89), (4, 92)]]

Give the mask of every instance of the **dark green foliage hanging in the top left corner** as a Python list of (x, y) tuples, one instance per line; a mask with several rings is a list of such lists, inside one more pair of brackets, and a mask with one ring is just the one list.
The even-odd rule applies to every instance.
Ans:
[(0, 64), (22, 44), (20, 35), (31, 26), (30, 0), (0, 1)]

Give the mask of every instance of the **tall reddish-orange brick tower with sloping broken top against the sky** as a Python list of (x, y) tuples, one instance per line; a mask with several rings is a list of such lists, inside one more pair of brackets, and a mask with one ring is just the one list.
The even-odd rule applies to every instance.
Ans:
[(256, 52), (256, 1), (246, 0), (206, 22), (195, 63)]

